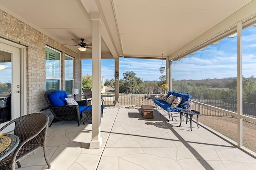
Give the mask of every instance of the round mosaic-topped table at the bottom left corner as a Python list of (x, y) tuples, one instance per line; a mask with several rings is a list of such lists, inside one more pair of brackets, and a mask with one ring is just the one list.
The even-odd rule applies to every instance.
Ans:
[(8, 156), (20, 143), (19, 137), (13, 134), (0, 133), (0, 160)]

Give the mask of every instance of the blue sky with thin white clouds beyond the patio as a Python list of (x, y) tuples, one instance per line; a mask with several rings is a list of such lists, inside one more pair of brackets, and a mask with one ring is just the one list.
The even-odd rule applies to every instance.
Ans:
[[(256, 75), (256, 27), (243, 31), (243, 76)], [(161, 55), (161, 54), (160, 54)], [(104, 80), (114, 78), (114, 59), (101, 60), (101, 74)], [(120, 58), (122, 73), (133, 71), (142, 80), (159, 80), (162, 60)], [(165, 66), (165, 61), (163, 61)], [(82, 61), (82, 74), (92, 74), (92, 60)], [(237, 37), (225, 38), (218, 45), (210, 45), (204, 51), (197, 51), (180, 61), (172, 62), (174, 80), (201, 80), (237, 77)]]

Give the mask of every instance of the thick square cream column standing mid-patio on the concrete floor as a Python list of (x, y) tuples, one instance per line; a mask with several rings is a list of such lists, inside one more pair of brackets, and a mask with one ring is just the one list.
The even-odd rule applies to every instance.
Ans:
[(100, 13), (90, 13), (92, 20), (92, 140), (90, 149), (99, 149), (102, 145), (100, 137), (100, 66), (101, 66), (101, 35), (100, 35)]

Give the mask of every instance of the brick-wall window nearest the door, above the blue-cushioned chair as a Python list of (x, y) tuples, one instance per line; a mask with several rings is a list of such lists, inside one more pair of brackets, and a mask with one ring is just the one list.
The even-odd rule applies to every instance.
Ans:
[(46, 91), (60, 90), (60, 52), (46, 47)]

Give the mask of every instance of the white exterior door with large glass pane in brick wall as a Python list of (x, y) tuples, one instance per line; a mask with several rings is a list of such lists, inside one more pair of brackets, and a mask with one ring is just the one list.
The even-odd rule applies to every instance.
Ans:
[(0, 126), (21, 116), (21, 91), (20, 48), (0, 42)]

